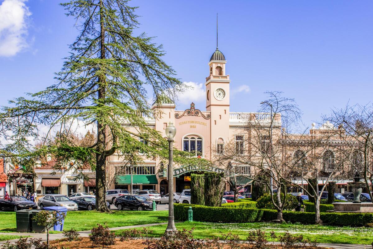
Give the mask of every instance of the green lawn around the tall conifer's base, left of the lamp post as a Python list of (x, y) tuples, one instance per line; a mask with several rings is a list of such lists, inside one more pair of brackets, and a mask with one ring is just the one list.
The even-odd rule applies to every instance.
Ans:
[[(123, 227), (150, 223), (167, 222), (168, 211), (112, 211), (100, 213), (96, 211), (68, 212), (64, 230), (74, 228), (77, 231), (91, 230), (92, 227), (106, 224), (108, 227)], [(0, 212), (0, 232), (16, 231), (15, 212)]]

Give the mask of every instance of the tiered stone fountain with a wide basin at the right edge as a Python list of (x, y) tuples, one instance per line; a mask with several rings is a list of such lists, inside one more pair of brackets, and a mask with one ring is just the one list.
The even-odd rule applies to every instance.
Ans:
[(334, 202), (334, 210), (332, 212), (348, 212), (348, 213), (373, 213), (372, 202), (361, 202), (360, 194), (363, 192), (365, 183), (360, 181), (360, 175), (356, 172), (354, 181), (347, 183), (352, 189), (354, 200), (352, 202)]

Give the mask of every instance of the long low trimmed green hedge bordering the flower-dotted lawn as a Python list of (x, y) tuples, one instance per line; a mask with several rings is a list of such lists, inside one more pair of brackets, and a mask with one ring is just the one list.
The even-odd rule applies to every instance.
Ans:
[[(194, 221), (207, 222), (259, 222), (272, 221), (277, 218), (277, 211), (272, 209), (236, 208), (236, 207), (208, 207), (201, 205), (175, 204), (175, 219), (188, 220), (188, 208), (192, 206)], [(322, 212), (320, 218), (324, 224), (335, 226), (359, 227), (373, 222), (373, 214), (369, 213), (333, 213)], [(283, 211), (283, 219), (289, 222), (314, 224), (314, 212)]]

